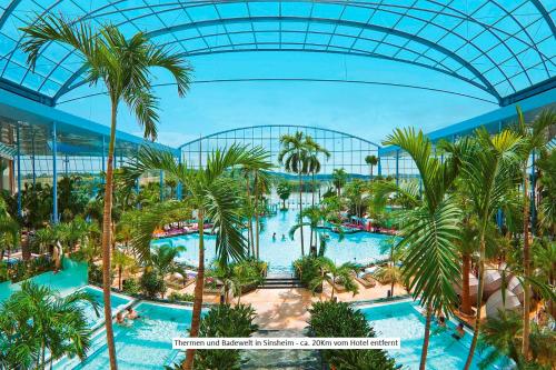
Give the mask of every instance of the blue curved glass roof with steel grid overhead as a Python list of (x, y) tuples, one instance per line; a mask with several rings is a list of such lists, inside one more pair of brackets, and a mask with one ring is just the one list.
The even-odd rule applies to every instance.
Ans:
[(4, 0), (0, 78), (54, 100), (85, 81), (79, 56), (63, 46), (49, 44), (34, 72), (26, 66), (19, 28), (47, 13), (111, 22), (128, 36), (141, 30), (188, 57), (269, 49), (406, 62), (498, 100), (556, 71), (555, 9), (545, 0)]

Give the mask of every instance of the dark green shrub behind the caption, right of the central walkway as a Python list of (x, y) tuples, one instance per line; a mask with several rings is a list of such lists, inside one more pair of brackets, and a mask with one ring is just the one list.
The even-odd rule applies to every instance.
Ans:
[[(315, 302), (309, 309), (309, 332), (320, 338), (373, 338), (365, 316), (346, 302)], [(325, 361), (337, 370), (393, 370), (395, 361), (384, 350), (322, 350)]]

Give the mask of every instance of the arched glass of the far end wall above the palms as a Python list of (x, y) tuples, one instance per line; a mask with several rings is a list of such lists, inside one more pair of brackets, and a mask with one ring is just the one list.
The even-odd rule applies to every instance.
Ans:
[[(279, 139), (282, 134), (296, 131), (310, 136), (330, 151), (329, 160), (321, 158), (320, 176), (329, 176), (334, 169), (344, 168), (351, 176), (366, 178), (369, 176), (369, 166), (365, 162), (365, 157), (369, 154), (378, 157), (380, 149), (380, 146), (373, 141), (337, 130), (301, 124), (258, 124), (205, 136), (186, 142), (178, 147), (178, 150), (181, 152), (182, 162), (199, 168), (206, 163), (207, 156), (216, 148), (229, 147), (232, 143), (262, 147), (269, 152), (272, 163), (277, 164), (275, 171), (284, 172), (278, 167), (277, 159), (280, 150)], [(379, 170), (377, 168), (375, 170), (374, 174), (378, 174)]]

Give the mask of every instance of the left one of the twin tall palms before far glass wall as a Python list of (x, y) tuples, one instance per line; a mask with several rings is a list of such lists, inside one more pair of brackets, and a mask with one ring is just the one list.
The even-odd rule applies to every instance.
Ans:
[[(306, 174), (307, 153), (310, 150), (307, 147), (305, 134), (297, 131), (295, 134), (284, 134), (280, 137), (281, 150), (278, 153), (278, 161), (284, 166), (286, 171), (297, 173), (299, 181), (299, 214), (304, 210), (302, 206), (302, 174)], [(299, 228), (301, 236), (301, 256), (305, 256), (304, 247), (304, 228)]]

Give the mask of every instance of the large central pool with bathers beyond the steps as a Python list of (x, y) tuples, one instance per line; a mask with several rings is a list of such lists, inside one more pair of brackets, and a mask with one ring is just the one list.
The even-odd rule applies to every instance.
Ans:
[[(300, 231), (297, 230), (294, 240), (289, 238), (289, 229), (296, 223), (298, 212), (279, 211), (277, 216), (262, 219), (260, 232), (260, 258), (269, 262), (269, 271), (290, 272), (291, 262), (301, 256)], [(276, 232), (276, 239), (272, 234)], [(327, 244), (326, 257), (336, 263), (355, 262), (369, 263), (387, 256), (380, 253), (380, 243), (391, 238), (389, 236), (357, 232), (345, 234), (344, 240), (329, 231), (330, 239)], [(304, 228), (305, 252), (309, 251), (309, 228)], [(282, 238), (285, 236), (285, 238)], [(206, 236), (206, 262), (210, 262), (216, 256), (216, 237)], [(179, 260), (188, 264), (198, 263), (198, 234), (179, 236), (172, 238), (158, 239), (152, 241), (152, 246), (170, 244), (172, 247), (186, 247)]]

